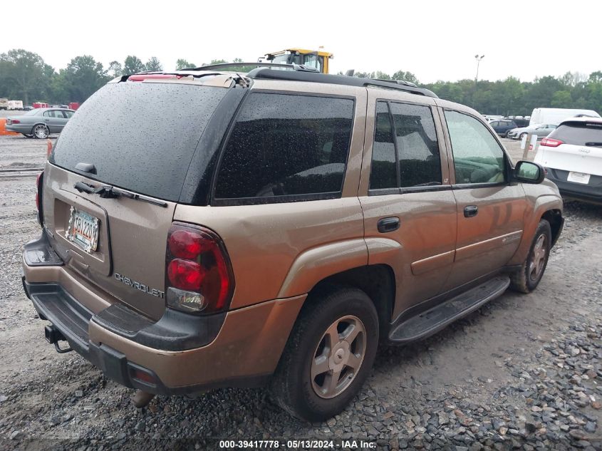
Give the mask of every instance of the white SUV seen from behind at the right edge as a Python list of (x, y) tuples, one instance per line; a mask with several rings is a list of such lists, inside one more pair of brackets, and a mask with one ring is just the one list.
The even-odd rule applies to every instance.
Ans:
[(541, 140), (535, 161), (562, 195), (602, 204), (602, 118), (565, 120)]

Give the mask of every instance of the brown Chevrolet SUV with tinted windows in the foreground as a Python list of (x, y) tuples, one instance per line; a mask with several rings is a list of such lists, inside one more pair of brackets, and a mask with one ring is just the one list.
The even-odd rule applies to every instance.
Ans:
[(23, 284), (47, 340), (140, 390), (138, 406), (269, 385), (324, 420), (379, 342), (541, 281), (559, 192), (471, 108), (302, 68), (133, 80), (98, 90), (57, 141)]

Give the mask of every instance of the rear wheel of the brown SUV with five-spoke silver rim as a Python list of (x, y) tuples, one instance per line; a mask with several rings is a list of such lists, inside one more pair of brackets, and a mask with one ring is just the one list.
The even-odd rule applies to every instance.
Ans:
[(378, 315), (367, 294), (334, 285), (311, 294), (274, 373), (276, 403), (310, 422), (341, 413), (368, 378), (377, 346)]

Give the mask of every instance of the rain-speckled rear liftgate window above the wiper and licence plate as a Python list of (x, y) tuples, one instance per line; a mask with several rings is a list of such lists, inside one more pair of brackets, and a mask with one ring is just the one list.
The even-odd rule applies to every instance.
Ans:
[(80, 162), (100, 182), (177, 202), (194, 149), (227, 89), (182, 83), (110, 83), (69, 120), (51, 162)]

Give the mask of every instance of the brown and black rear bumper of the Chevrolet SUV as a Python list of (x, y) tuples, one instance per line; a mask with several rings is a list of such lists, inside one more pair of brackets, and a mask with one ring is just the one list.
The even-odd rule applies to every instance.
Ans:
[(60, 259), (32, 261), (44, 252), (53, 254), (44, 235), (24, 252), (24, 290), (40, 317), (109, 378), (148, 393), (264, 385), (306, 297), (205, 317), (165, 309), (152, 321), (123, 304), (84, 305), (77, 296), (90, 287)]

